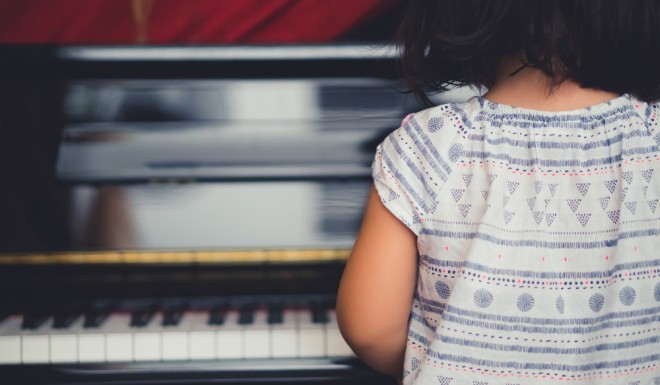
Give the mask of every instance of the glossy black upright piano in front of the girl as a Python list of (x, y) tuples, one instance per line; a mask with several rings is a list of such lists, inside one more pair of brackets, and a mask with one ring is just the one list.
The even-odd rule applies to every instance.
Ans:
[(0, 49), (5, 384), (388, 384), (334, 312), (389, 46)]

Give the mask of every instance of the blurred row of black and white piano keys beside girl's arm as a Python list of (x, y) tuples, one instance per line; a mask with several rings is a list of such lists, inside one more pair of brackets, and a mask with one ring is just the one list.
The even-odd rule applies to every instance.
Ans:
[(334, 309), (96, 309), (0, 321), (0, 364), (352, 357)]

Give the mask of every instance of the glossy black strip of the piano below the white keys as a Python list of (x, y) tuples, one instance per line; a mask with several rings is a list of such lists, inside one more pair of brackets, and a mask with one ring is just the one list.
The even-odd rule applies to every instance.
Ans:
[(357, 359), (268, 359), (224, 362), (128, 363), (0, 367), (11, 384), (242, 384), (393, 385)]

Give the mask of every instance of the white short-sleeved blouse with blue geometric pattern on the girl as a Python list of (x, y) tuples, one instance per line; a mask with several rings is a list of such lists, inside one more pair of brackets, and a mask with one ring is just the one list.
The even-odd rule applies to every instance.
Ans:
[(660, 385), (659, 119), (473, 97), (385, 139), (374, 183), (419, 252), (404, 384)]

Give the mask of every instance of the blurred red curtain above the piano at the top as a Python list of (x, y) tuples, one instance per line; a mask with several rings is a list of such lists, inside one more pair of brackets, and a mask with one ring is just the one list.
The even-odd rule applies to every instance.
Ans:
[(0, 0), (0, 43), (332, 41), (401, 0)]

